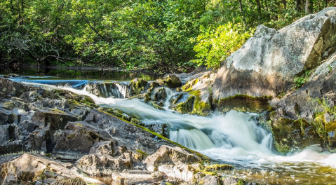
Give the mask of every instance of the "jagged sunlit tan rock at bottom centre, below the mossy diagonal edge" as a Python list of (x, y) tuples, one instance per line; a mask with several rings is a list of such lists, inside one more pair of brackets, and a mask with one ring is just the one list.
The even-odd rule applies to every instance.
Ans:
[(161, 146), (156, 153), (148, 156), (146, 163), (147, 170), (157, 171), (160, 165), (174, 165), (177, 162), (192, 164), (200, 162), (201, 159), (196, 154), (191, 154), (180, 147)]

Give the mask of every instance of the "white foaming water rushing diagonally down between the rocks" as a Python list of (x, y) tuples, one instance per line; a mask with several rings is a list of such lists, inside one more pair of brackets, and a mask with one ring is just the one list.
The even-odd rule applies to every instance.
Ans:
[[(57, 88), (54, 85), (41, 86)], [(227, 114), (213, 114), (208, 117), (182, 115), (168, 110), (168, 100), (165, 102), (166, 111), (161, 111), (137, 99), (104, 98), (90, 94), (86, 90), (69, 87), (62, 89), (88, 95), (96, 104), (121, 109), (126, 114), (141, 119), (143, 123), (167, 123), (171, 140), (225, 163), (244, 167), (267, 166), (272, 169), (283, 167), (283, 163), (318, 163), (336, 168), (336, 153), (321, 153), (316, 147), (288, 156), (278, 155), (271, 148), (271, 134), (257, 126), (255, 114), (229, 111)], [(167, 99), (170, 99), (173, 92), (171, 90), (166, 92), (169, 97)], [(291, 167), (287, 170), (293, 170)]]

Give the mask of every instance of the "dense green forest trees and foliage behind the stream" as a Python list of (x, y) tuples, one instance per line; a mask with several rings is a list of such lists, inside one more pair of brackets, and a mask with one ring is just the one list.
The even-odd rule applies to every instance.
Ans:
[(335, 1), (1, 0), (1, 65), (156, 72), (220, 67), (257, 25), (280, 29)]

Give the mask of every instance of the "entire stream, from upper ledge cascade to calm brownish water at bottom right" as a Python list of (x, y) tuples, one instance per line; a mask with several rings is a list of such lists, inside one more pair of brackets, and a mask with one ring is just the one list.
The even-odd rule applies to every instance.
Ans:
[[(124, 99), (127, 82), (98, 85), (86, 80), (58, 78), (13, 78), (47, 89), (62, 88), (88, 95), (102, 107), (121, 109), (145, 124), (168, 125), (169, 139), (199, 151), (218, 163), (230, 163), (234, 170), (222, 171), (248, 181), (271, 184), (333, 184), (336, 182), (336, 154), (321, 153), (318, 146), (281, 156), (272, 148), (272, 135), (257, 125), (257, 114), (229, 111), (208, 117), (179, 114), (170, 110), (169, 99), (175, 92), (166, 88), (165, 110), (158, 110), (140, 100)], [(102, 83), (102, 82), (100, 82)]]

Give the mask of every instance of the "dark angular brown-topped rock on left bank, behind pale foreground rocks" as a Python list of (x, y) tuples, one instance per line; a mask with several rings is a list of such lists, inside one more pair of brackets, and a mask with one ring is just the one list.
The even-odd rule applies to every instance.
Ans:
[(111, 139), (105, 130), (83, 121), (69, 122), (58, 139), (52, 156), (67, 160), (78, 160), (90, 152), (95, 142)]

